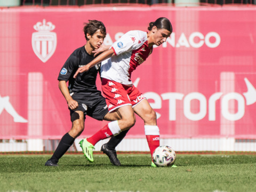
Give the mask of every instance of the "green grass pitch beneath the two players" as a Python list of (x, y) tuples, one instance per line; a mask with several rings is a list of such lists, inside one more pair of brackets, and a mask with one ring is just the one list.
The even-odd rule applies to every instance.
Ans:
[(51, 155), (0, 155), (0, 191), (256, 191), (255, 155), (177, 155), (172, 167), (150, 167), (149, 154), (64, 155), (58, 167), (44, 166)]

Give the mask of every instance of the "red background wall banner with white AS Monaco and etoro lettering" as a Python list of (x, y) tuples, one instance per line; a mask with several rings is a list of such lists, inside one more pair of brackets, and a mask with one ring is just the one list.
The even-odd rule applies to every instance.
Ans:
[[(126, 31), (146, 31), (159, 17), (171, 20), (173, 33), (132, 81), (157, 113), (161, 145), (256, 151), (254, 3), (0, 0), (0, 152), (52, 151), (69, 131), (57, 77), (71, 52), (85, 44), (84, 22), (105, 23), (105, 44), (111, 45)], [(87, 117), (70, 150), (81, 150), (79, 140), (106, 123)], [(141, 119), (117, 150), (149, 151)]]

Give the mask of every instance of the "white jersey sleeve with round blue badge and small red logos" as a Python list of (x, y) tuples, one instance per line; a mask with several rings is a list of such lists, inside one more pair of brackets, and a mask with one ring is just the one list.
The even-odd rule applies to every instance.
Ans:
[[(141, 31), (142, 32), (142, 31)], [(143, 32), (146, 34), (146, 32)], [(145, 35), (143, 34), (143, 35)], [(127, 51), (137, 50), (143, 45), (147, 38), (137, 31), (129, 31), (118, 39), (112, 46), (115, 55), (122, 54)]]

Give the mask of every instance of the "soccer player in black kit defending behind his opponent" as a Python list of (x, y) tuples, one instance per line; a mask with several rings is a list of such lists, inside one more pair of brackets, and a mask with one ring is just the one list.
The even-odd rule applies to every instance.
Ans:
[[(96, 78), (100, 72), (100, 63), (92, 67), (89, 71), (80, 73), (73, 78), (79, 67), (85, 66), (94, 59), (94, 54), (105, 51), (102, 48), (103, 39), (106, 36), (106, 28), (101, 21), (89, 20), (83, 28), (86, 44), (76, 49), (67, 59), (61, 68), (58, 80), (59, 89), (65, 97), (70, 110), (72, 122), (71, 130), (63, 135), (57, 149), (52, 157), (45, 163), (45, 166), (58, 166), (59, 159), (66, 153), (75, 139), (83, 132), (86, 115), (102, 121), (115, 121), (120, 119), (119, 115), (108, 113), (105, 98), (97, 90)], [(66, 82), (68, 81), (68, 86)], [(121, 163), (117, 159), (115, 147), (125, 137), (127, 131), (112, 137), (108, 143), (102, 145), (101, 151), (107, 154), (110, 162), (116, 166)]]

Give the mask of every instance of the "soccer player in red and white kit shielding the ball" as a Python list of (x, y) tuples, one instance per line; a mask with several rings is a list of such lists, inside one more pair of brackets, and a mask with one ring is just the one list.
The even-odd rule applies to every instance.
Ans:
[[(129, 130), (135, 124), (134, 112), (145, 122), (145, 134), (151, 156), (159, 146), (156, 113), (143, 94), (132, 84), (131, 73), (152, 53), (153, 45), (159, 46), (166, 42), (171, 33), (172, 25), (169, 19), (158, 18), (149, 23), (148, 32), (127, 32), (108, 51), (76, 71), (74, 77), (103, 61), (102, 92), (106, 97), (109, 112), (117, 111), (121, 117), (118, 121), (108, 123), (91, 137), (81, 140), (83, 153), (90, 162), (93, 162), (93, 148), (98, 141)], [(152, 162), (151, 166), (155, 164)]]

